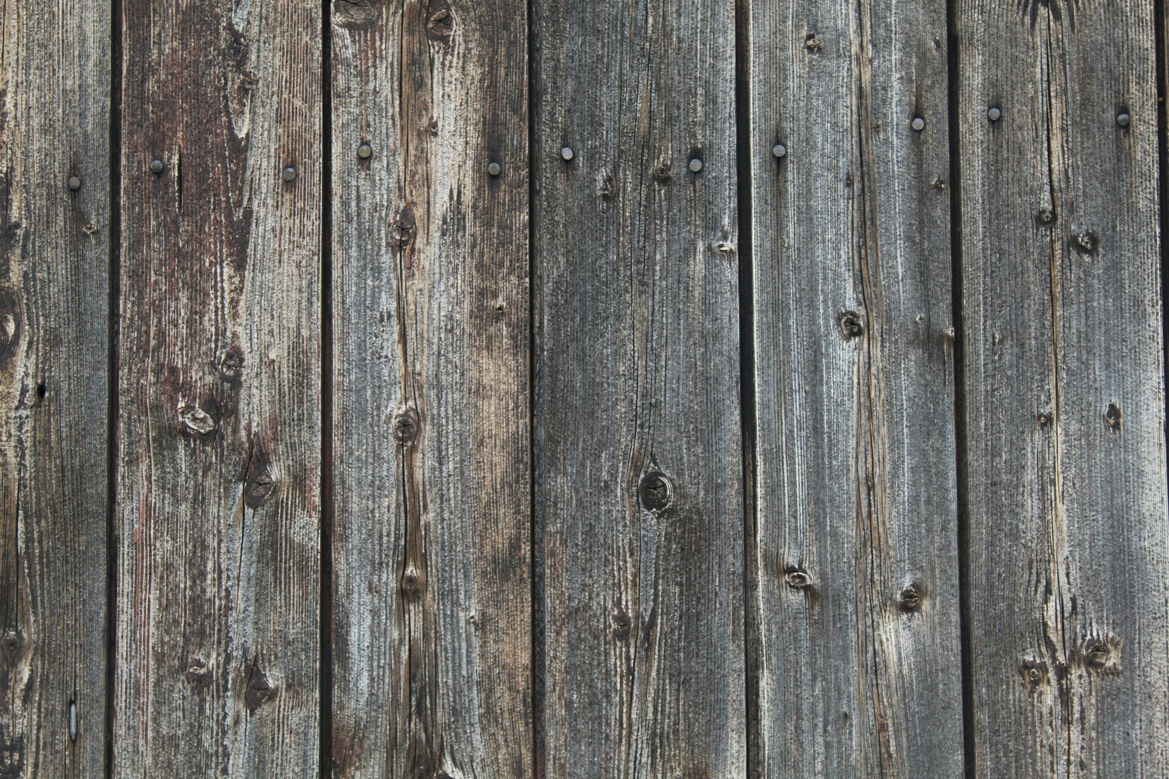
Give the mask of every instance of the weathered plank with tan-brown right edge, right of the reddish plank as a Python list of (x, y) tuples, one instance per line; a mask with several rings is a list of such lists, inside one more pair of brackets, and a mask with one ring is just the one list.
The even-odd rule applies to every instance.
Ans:
[(532, 775), (526, 12), (333, 4), (339, 777)]

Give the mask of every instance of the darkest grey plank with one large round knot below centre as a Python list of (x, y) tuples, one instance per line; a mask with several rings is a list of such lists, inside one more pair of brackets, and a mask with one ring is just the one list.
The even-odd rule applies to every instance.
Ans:
[(733, 14), (533, 9), (548, 777), (746, 771)]

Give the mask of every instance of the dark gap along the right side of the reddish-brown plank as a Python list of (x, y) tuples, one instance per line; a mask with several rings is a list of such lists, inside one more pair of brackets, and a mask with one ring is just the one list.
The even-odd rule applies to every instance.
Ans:
[(330, 2), (320, 4), (320, 777), (333, 773), (333, 83)]

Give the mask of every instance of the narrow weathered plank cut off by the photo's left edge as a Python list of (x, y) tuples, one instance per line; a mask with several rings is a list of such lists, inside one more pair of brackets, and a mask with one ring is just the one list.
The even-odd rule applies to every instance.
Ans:
[(0, 23), (0, 775), (97, 777), (110, 7), (8, 4)]

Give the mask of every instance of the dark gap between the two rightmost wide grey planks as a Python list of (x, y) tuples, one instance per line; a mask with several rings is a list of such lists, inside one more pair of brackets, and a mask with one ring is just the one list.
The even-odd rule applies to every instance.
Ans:
[(950, 180), (950, 322), (954, 328), (954, 459), (957, 489), (957, 589), (962, 654), (962, 752), (967, 779), (975, 777), (974, 672), (970, 633), (969, 454), (966, 424), (966, 322), (962, 318), (962, 168), (959, 144), (957, 0), (946, 2)]

